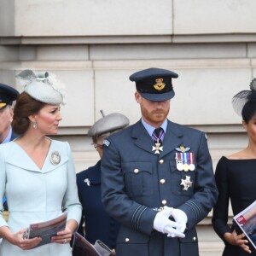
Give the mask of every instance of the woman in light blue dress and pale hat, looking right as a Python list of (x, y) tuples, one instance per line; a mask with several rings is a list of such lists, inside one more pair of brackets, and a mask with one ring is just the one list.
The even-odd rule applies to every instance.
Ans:
[[(13, 128), (21, 136), (0, 146), (0, 198), (6, 195), (9, 220), (0, 206), (0, 256), (71, 256), (69, 241), (78, 228), (81, 205), (73, 157), (68, 143), (50, 139), (61, 121), (64, 103), (55, 77), (21, 72), (28, 79), (15, 105)], [(66, 229), (38, 246), (42, 239), (24, 239), (29, 224), (47, 221), (67, 210)]]

